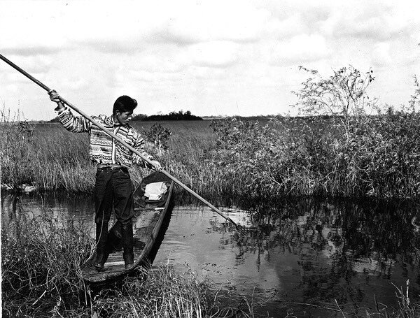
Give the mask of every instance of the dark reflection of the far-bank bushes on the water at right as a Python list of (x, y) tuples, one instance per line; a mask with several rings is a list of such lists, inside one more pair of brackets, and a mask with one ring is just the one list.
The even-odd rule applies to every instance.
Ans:
[[(283, 201), (268, 213), (260, 212), (261, 208), (257, 208), (252, 214), (254, 226), (261, 230), (256, 239), (271, 248), (286, 244), (300, 254), (308, 249), (321, 252), (331, 265), (343, 259), (376, 260), (378, 263), (366, 263), (369, 271), (388, 268), (392, 264), (389, 260), (397, 255), (407, 263), (419, 263), (419, 236), (411, 224), (418, 209), (409, 202), (325, 202), (305, 198)], [(356, 265), (351, 269), (360, 271)]]

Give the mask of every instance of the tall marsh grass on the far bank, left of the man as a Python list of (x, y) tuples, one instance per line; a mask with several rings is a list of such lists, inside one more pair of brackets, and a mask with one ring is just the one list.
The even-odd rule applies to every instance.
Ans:
[(88, 160), (87, 136), (45, 129), (3, 110), (0, 122), (1, 185), (21, 191), (91, 191), (94, 166)]

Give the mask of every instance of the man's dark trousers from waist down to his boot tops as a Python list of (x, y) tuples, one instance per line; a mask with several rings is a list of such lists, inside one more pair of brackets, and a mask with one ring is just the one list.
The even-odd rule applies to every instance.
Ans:
[(130, 224), (133, 211), (133, 184), (127, 168), (98, 169), (94, 185), (96, 224), (108, 224), (112, 209), (122, 225)]

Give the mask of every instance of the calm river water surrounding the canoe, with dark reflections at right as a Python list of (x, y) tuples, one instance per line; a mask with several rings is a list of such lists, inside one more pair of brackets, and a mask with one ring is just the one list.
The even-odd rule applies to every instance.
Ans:
[[(11, 196), (1, 199), (1, 222), (13, 226)], [(47, 211), (92, 224), (90, 196), (21, 198), (25, 211)], [(356, 202), (295, 198), (246, 210), (223, 208), (235, 227), (204, 208), (176, 203), (154, 265), (194, 270), (221, 287), (225, 299), (252, 300), (255, 317), (342, 317), (339, 309), (366, 316), (397, 308), (395, 291), (420, 294), (420, 233), (411, 224), (419, 209), (411, 201)], [(93, 229), (93, 224), (91, 229)], [(93, 235), (93, 231), (91, 231)], [(339, 308), (337, 304), (339, 303)], [(232, 301), (230, 301), (232, 303)]]

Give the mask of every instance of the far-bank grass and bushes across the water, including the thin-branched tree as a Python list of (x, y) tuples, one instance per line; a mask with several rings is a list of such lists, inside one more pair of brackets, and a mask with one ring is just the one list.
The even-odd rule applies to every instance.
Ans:
[[(372, 71), (350, 66), (324, 78), (302, 70), (309, 78), (295, 92), (300, 117), (133, 125), (166, 170), (203, 196), (419, 196), (418, 80), (396, 111), (367, 95)], [(85, 134), (31, 127), (4, 113), (0, 127), (2, 185), (92, 191)], [(144, 173), (133, 168), (134, 182)]]

